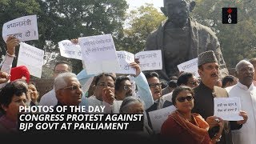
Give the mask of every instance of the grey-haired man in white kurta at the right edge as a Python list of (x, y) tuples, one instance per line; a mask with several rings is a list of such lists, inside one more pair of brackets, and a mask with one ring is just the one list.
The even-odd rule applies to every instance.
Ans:
[(254, 67), (250, 62), (242, 60), (236, 66), (239, 82), (227, 87), (230, 97), (239, 97), (241, 109), (248, 115), (247, 122), (240, 130), (232, 130), (234, 144), (256, 143), (256, 87), (253, 84)]

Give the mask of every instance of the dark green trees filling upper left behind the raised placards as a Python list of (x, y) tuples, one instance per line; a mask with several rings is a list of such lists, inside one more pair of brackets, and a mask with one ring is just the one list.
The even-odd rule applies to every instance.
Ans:
[[(26, 43), (44, 50), (45, 58), (49, 58), (46, 62), (70, 61), (77, 74), (82, 70), (82, 62), (57, 56), (58, 42), (78, 38), (80, 34), (84, 37), (112, 34), (117, 41), (123, 35), (127, 8), (126, 0), (0, 0), (0, 23), (36, 14), (39, 40)], [(3, 40), (0, 46), (4, 54), (6, 44)]]

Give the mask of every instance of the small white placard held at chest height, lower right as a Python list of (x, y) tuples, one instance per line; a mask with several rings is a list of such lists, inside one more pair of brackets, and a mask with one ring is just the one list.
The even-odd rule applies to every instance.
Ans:
[(239, 115), (241, 110), (240, 98), (214, 98), (214, 116), (226, 121), (243, 120)]

